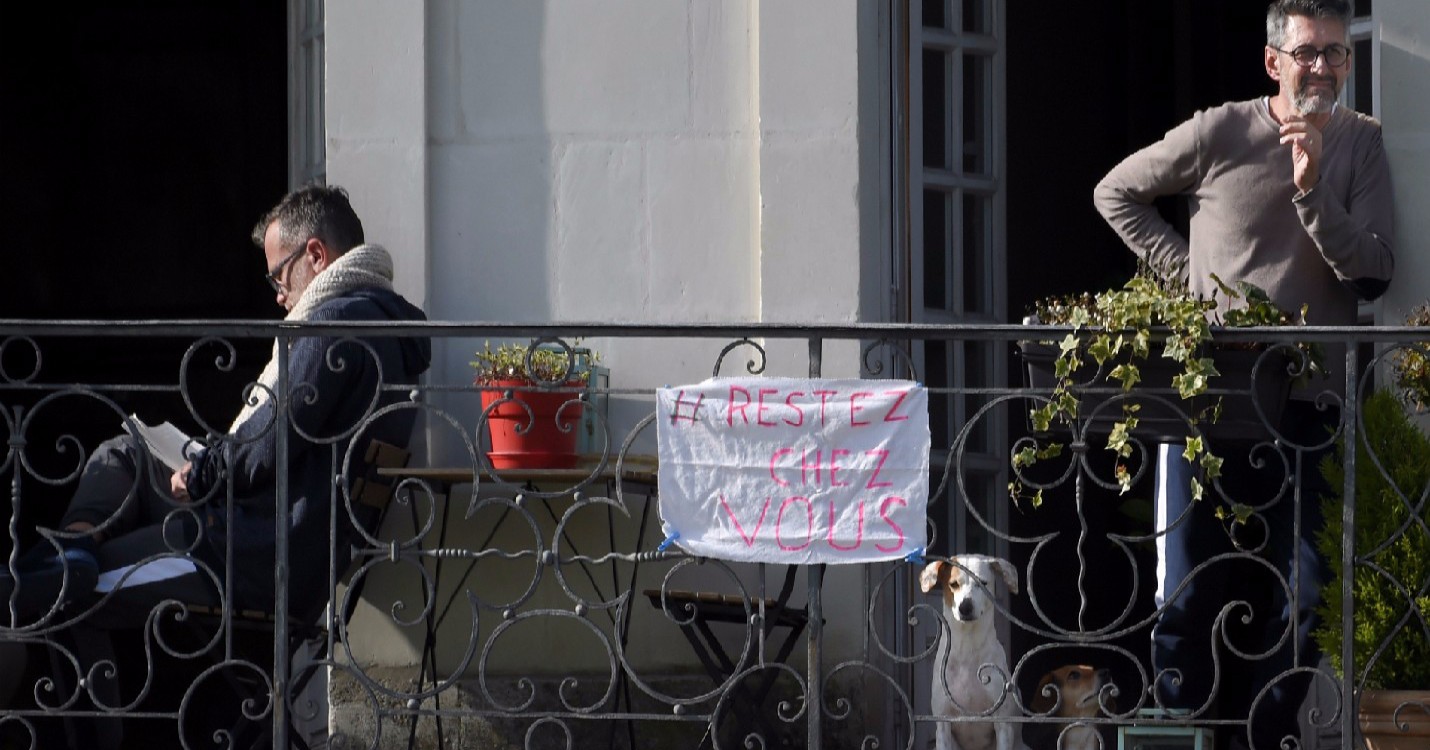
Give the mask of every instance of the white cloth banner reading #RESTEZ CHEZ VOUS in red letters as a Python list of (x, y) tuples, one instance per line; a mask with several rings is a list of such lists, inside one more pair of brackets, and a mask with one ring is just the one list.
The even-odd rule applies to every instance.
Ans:
[(714, 378), (656, 394), (661, 518), (685, 551), (869, 562), (925, 545), (928, 391)]

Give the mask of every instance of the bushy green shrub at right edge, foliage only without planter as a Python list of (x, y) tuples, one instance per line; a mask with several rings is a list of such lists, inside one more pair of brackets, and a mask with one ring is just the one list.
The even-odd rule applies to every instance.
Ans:
[[(1390, 391), (1373, 394), (1363, 417), (1361, 451), (1356, 455), (1357, 564), (1351, 588), (1356, 678), (1371, 690), (1424, 688), (1430, 687), (1430, 595), (1426, 594), (1430, 532), (1424, 525), (1430, 438)], [(1326, 528), (1317, 547), (1330, 560), (1333, 575), (1317, 608), (1321, 623), (1314, 634), (1338, 674), (1344, 674), (1340, 605), (1344, 504), (1338, 492), (1344, 487), (1344, 454), (1341, 438), (1336, 451), (1321, 459), (1321, 475), (1333, 491), (1321, 501)], [(1411, 510), (1419, 511), (1419, 522), (1411, 520)], [(1377, 657), (1381, 647), (1386, 650)]]

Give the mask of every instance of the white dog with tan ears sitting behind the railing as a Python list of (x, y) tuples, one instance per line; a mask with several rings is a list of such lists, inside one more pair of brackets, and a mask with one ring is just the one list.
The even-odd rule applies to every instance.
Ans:
[[(1018, 724), (994, 721), (1014, 716), (1008, 654), (994, 634), (994, 578), (1018, 593), (1018, 570), (1012, 562), (988, 555), (958, 555), (955, 564), (930, 562), (918, 577), (924, 593), (944, 594), (947, 637), (938, 640), (930, 707), (935, 716), (988, 716), (987, 721), (940, 721), (938, 750), (1022, 750)], [(942, 670), (942, 673), (940, 673)], [(997, 704), (997, 708), (994, 706)]]

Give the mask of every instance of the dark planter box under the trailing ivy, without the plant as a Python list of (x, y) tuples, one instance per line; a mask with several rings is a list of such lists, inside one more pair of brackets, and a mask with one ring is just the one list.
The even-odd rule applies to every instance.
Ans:
[[(1025, 385), (1035, 391), (1051, 392), (1057, 385), (1054, 378), (1057, 345), (1021, 341), (1018, 354), (1024, 362)], [(1181, 442), (1193, 432), (1187, 421), (1214, 405), (1218, 398), (1218, 394), (1204, 394), (1183, 401), (1171, 385), (1173, 376), (1181, 372), (1181, 364), (1161, 356), (1158, 351), (1137, 362), (1143, 379), (1128, 394), (1123, 392), (1120, 382), (1108, 378), (1113, 364), (1098, 369), (1090, 358), (1083, 359), (1083, 366), (1072, 372), (1071, 392), (1078, 399), (1078, 421), (1088, 435), (1111, 432), (1113, 424), (1123, 418), (1121, 405), (1134, 402), (1141, 404), (1141, 411), (1137, 412), (1138, 424), (1133, 437), (1157, 442)], [(1213, 359), (1221, 374), (1211, 379), (1211, 391), (1221, 392), (1221, 418), (1216, 422), (1201, 419), (1197, 429), (1211, 441), (1268, 439), (1271, 432), (1267, 425), (1280, 424), (1291, 391), (1286, 358), (1280, 352), (1267, 354), (1264, 349), (1216, 349)], [(1148, 398), (1153, 395), (1165, 399), (1167, 404)], [(1110, 399), (1113, 401), (1108, 402)]]

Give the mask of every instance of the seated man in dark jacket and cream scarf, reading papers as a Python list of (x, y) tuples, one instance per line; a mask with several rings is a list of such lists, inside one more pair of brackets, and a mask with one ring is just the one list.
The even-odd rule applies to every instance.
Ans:
[[(425, 319), (393, 291), (388, 252), (363, 243), (342, 188), (289, 193), (253, 239), (287, 321)], [(156, 481), (137, 438), (102, 444), (61, 531), (21, 555), (14, 575), (0, 565), (0, 598), (14, 594), (14, 625), (87, 614), (106, 625), (142, 624), (164, 600), (219, 604), (225, 583), (236, 607), (272, 611), (277, 502), (289, 510), (290, 611), (316, 614), (313, 604), (327, 601), (327, 570), (346, 565), (352, 534), (335, 478), (345, 461), (349, 478), (360, 475), (370, 439), (408, 442), (415, 409), (375, 415), (405, 399), (429, 364), (425, 338), (280, 338), (229, 434), (167, 481)], [(342, 560), (329, 560), (333, 512), (332, 548)], [(77, 611), (96, 598), (93, 611)]]

